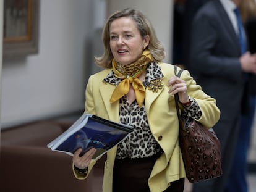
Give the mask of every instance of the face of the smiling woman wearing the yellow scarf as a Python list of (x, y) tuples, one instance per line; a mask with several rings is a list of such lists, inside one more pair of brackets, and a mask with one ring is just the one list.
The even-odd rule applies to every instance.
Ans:
[(110, 49), (119, 64), (128, 65), (137, 61), (146, 48), (149, 36), (142, 38), (134, 20), (121, 17), (109, 26)]

